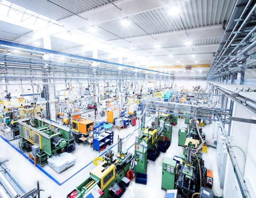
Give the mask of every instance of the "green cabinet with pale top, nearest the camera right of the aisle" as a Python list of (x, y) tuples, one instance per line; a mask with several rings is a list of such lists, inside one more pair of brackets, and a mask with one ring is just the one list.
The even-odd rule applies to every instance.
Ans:
[(162, 188), (165, 190), (174, 189), (176, 173), (176, 161), (167, 157), (163, 159), (162, 165)]

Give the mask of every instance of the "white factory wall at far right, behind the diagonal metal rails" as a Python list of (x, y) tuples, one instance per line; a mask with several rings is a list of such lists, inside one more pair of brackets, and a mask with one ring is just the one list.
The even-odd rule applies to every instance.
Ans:
[[(254, 116), (248, 113), (248, 111), (236, 104), (234, 104), (232, 116), (246, 119), (256, 119)], [(230, 129), (230, 142), (233, 146), (234, 156), (236, 157), (238, 168), (241, 174), (244, 173), (244, 180), (246, 181), (248, 188), (252, 189), (250, 193), (254, 193), (254, 196), (256, 194), (255, 127), (256, 124), (232, 121)], [(244, 153), (241, 149), (244, 151)], [(224, 182), (224, 198), (240, 196), (240, 188), (234, 173), (234, 168), (228, 157)]]

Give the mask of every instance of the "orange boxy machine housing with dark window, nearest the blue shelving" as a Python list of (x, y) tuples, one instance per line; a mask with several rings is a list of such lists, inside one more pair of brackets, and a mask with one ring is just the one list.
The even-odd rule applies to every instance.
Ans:
[(73, 131), (83, 133), (88, 135), (90, 132), (90, 127), (94, 125), (94, 121), (90, 121), (87, 119), (79, 119), (71, 121), (71, 129)]

